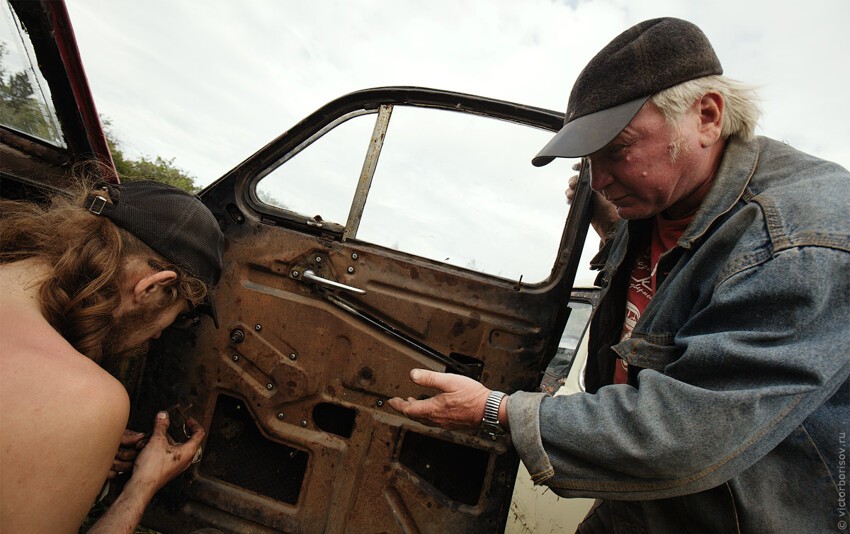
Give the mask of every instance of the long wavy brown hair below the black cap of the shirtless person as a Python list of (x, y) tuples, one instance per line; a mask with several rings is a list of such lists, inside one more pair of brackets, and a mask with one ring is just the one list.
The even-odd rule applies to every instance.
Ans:
[(74, 194), (55, 194), (46, 208), (0, 201), (0, 263), (33, 258), (51, 266), (38, 293), (45, 317), (75, 349), (100, 362), (130, 259), (177, 273), (164, 305), (178, 299), (197, 304), (208, 289), (106, 217), (83, 208), (90, 190), (90, 180), (79, 180)]

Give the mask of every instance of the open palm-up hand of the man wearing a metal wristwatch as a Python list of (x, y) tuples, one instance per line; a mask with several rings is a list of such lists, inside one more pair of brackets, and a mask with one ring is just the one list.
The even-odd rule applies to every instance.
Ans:
[(484, 403), (490, 394), (490, 390), (481, 383), (466, 376), (425, 369), (413, 369), (410, 379), (420, 386), (439, 389), (441, 393), (425, 400), (392, 398), (389, 404), (393, 410), (422, 423), (450, 430), (481, 425)]

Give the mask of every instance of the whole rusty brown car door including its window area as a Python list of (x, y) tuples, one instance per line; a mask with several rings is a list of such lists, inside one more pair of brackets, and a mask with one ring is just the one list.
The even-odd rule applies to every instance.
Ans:
[[(354, 147), (343, 150), (334, 132), (355, 118), (367, 126), (339, 134)], [(207, 437), (201, 461), (160, 493), (144, 524), (502, 531), (518, 466), (509, 438), (425, 426), (386, 401), (434, 394), (410, 382), (415, 367), (508, 393), (539, 386), (569, 313), (587, 202), (568, 209), (568, 168), (558, 180), (536, 174), (533, 149), (505, 132), (533, 131), (542, 146), (561, 123), (560, 113), (464, 94), (365, 90), (325, 105), (203, 191), (227, 238), (219, 327), (201, 320), (170, 329), (125, 381), (138, 380), (134, 423), (176, 406)], [(507, 128), (495, 136), (504, 146), (491, 128)], [(475, 139), (488, 160), (516, 158), (523, 169), (499, 198), (484, 197), (501, 160), (494, 167), (466, 148), (446, 153)], [(356, 163), (342, 163), (352, 151)], [(467, 155), (477, 161), (455, 161)], [(439, 176), (428, 174), (438, 167)], [(554, 223), (536, 221), (543, 200), (512, 204), (546, 180), (540, 198), (557, 197)], [(477, 189), (463, 185), (473, 182)], [(588, 194), (582, 184), (579, 196)], [(482, 222), (491, 214), (505, 221)], [(456, 217), (447, 231), (438, 229), (443, 217)], [(548, 259), (522, 249), (535, 236), (506, 235), (526, 223), (530, 233), (552, 227)], [(432, 247), (440, 239), (444, 248)]]

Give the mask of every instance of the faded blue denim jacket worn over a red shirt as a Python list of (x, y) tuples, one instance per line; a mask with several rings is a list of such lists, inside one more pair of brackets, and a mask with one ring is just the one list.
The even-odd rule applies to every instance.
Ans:
[[(607, 500), (616, 532), (846, 528), (850, 173), (771, 139), (731, 138), (620, 342), (647, 228), (623, 223), (614, 238), (588, 392), (510, 397), (532, 479)], [(629, 384), (610, 384), (615, 354)]]

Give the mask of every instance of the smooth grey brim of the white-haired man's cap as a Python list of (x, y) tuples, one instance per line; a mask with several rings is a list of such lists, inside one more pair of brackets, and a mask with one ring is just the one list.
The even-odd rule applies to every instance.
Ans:
[(638, 98), (568, 122), (531, 164), (542, 167), (555, 158), (580, 158), (596, 152), (623, 131), (648, 99)]

